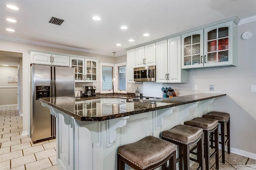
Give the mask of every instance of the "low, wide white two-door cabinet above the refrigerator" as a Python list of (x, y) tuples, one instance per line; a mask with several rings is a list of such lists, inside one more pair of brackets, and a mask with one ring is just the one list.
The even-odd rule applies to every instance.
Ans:
[(50, 53), (30, 52), (30, 63), (69, 66), (69, 57)]

